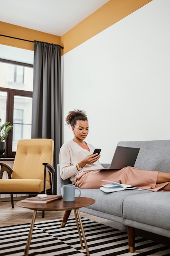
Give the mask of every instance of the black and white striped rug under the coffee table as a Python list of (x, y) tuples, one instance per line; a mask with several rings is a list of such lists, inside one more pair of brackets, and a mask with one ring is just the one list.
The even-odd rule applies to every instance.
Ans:
[[(170, 247), (144, 238), (135, 238), (135, 253), (128, 252), (126, 232), (82, 218), (84, 232), (91, 256), (168, 256)], [(35, 222), (29, 256), (85, 256), (81, 250), (75, 219), (69, 219), (60, 228), (61, 219)], [(23, 256), (30, 224), (0, 228), (0, 256)]]

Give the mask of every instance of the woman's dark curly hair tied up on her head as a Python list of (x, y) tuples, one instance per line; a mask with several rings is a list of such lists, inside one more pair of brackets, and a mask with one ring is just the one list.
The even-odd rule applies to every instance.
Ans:
[(77, 110), (68, 112), (68, 115), (66, 117), (66, 124), (68, 126), (75, 127), (77, 120), (88, 121), (86, 112), (84, 110), (77, 109)]

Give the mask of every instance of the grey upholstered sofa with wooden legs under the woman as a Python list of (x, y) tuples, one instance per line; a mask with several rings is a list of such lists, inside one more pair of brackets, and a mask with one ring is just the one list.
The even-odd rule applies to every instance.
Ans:
[[(140, 148), (134, 167), (170, 172), (170, 140), (120, 141), (118, 146)], [(57, 194), (61, 194), (61, 187), (68, 183), (71, 183), (69, 179), (61, 179), (57, 165)], [(170, 192), (126, 190), (104, 193), (100, 189), (81, 189), (81, 196), (96, 201), (80, 209), (82, 212), (127, 226), (130, 252), (135, 251), (135, 228), (170, 238)]]

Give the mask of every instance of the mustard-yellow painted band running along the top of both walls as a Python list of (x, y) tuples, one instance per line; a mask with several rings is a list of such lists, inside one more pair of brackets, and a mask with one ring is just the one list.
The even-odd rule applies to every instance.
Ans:
[[(61, 37), (5, 22), (0, 22), (0, 34), (59, 44), (64, 47), (61, 51), (62, 54), (65, 54), (151, 1), (110, 0)], [(31, 42), (3, 36), (0, 36), (0, 44), (33, 50)]]

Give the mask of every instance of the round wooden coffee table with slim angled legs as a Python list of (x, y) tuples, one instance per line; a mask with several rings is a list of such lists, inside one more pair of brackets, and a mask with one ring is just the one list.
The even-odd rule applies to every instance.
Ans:
[[(82, 236), (84, 239), (84, 245), (86, 248), (86, 252), (87, 255), (90, 256), (89, 251), (88, 251), (88, 246), (87, 246), (87, 242), (86, 242), (86, 237), (84, 234), (84, 229), (83, 229), (83, 225), (82, 225), (82, 220), (81, 220), (81, 216), (79, 213), (79, 208), (81, 207), (86, 207), (88, 205), (94, 204), (95, 200), (92, 198), (84, 198), (84, 197), (78, 197), (75, 198), (75, 201), (72, 202), (65, 202), (62, 200), (62, 198), (57, 199), (55, 201), (52, 202), (48, 202), (46, 204), (38, 204), (38, 203), (27, 203), (27, 202), (17, 202), (17, 205), (23, 208), (28, 208), (33, 210), (33, 218), (31, 221), (31, 227), (29, 230), (29, 235), (26, 241), (26, 247), (24, 250), (24, 255), (28, 255), (29, 254), (29, 246), (31, 243), (31, 237), (32, 237), (32, 233), (33, 233), (33, 227), (34, 227), (34, 222), (35, 222), (35, 218), (36, 218), (36, 213), (37, 211), (71, 211), (74, 210), (74, 214), (75, 214), (75, 220), (76, 220), (76, 224), (77, 224), (77, 230), (78, 230), (78, 234), (79, 234), (79, 240), (80, 240), (80, 244), (82, 247), (82, 250), (84, 250), (84, 246), (83, 246), (83, 242), (82, 242), (82, 237), (81, 237), (81, 233), (80, 233), (80, 229), (82, 231)], [(80, 227), (79, 227), (80, 225)]]

